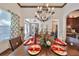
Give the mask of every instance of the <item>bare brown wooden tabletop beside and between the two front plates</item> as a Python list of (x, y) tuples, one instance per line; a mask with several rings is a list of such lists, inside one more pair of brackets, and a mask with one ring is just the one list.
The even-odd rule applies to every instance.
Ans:
[[(9, 56), (31, 56), (28, 53), (28, 47), (29, 46), (24, 46), (23, 44), (18, 47), (15, 51), (13, 51), (11, 54), (9, 54)], [(53, 52), (50, 47), (49, 48), (45, 48), (42, 47), (42, 50), (40, 51), (39, 54), (35, 55), (35, 56), (59, 56), (58, 54), (56, 54), (55, 52)]]

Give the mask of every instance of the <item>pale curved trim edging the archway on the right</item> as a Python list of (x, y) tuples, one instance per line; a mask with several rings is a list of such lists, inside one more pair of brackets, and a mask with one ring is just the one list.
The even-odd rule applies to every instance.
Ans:
[(64, 13), (64, 16), (63, 16), (63, 35), (62, 35), (63, 41), (65, 41), (66, 38), (67, 38), (67, 36), (66, 36), (67, 17), (68, 17), (68, 15), (69, 15), (71, 12), (73, 12), (73, 11), (75, 11), (75, 10), (78, 10), (78, 9), (79, 9), (79, 7), (76, 7), (76, 8), (73, 8), (73, 7), (72, 7), (71, 9), (65, 10), (65, 13)]

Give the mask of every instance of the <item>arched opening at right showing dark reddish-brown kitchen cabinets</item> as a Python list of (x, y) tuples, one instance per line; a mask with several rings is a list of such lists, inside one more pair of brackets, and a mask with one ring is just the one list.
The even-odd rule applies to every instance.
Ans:
[(78, 38), (79, 9), (70, 12), (66, 18), (66, 36)]

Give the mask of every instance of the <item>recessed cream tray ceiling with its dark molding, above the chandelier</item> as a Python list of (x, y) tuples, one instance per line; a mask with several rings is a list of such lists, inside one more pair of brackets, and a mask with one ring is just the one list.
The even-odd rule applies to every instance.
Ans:
[[(46, 3), (17, 3), (21, 8), (37, 8), (38, 6), (46, 7)], [(63, 8), (66, 3), (48, 3), (49, 7)]]

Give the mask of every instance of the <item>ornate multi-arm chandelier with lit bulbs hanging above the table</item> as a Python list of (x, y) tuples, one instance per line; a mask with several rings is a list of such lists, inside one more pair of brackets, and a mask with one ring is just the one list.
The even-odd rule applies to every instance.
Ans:
[(35, 12), (35, 17), (40, 21), (47, 21), (55, 12), (54, 8), (49, 7), (48, 4), (46, 6), (38, 6), (37, 12)]

